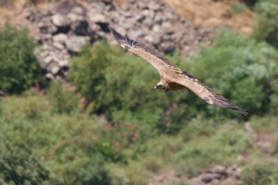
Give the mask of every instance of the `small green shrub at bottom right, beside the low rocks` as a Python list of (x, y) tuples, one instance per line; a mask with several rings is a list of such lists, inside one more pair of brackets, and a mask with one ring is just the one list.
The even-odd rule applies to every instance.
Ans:
[(272, 180), (272, 167), (267, 163), (250, 164), (243, 170), (243, 184), (248, 185), (268, 185)]

